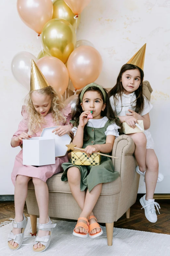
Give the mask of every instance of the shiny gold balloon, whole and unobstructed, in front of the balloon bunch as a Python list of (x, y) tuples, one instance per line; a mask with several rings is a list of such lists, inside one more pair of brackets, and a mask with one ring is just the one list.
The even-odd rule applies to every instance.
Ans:
[(76, 32), (68, 21), (52, 19), (43, 27), (41, 42), (49, 55), (65, 64), (75, 48)]

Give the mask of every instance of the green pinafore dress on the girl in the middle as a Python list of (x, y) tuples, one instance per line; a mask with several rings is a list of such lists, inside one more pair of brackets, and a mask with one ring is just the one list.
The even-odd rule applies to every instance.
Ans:
[[(104, 127), (102, 128), (93, 128), (87, 126), (87, 132), (89, 135), (89, 140), (84, 141), (83, 148), (88, 145), (96, 145), (96, 144), (105, 144), (106, 143), (106, 135), (105, 131), (107, 127), (112, 124), (110, 120), (108, 120)], [(109, 154), (107, 154), (109, 155)], [(119, 177), (119, 172), (114, 172), (114, 166), (111, 161), (111, 158), (106, 156), (101, 156), (100, 165), (73, 165), (71, 160), (66, 163), (62, 163), (62, 167), (64, 169), (63, 175), (61, 177), (62, 181), (67, 180), (67, 170), (71, 167), (78, 167), (81, 173), (81, 181), (80, 181), (80, 190), (84, 191), (88, 188), (89, 192), (100, 183), (106, 183), (114, 181)]]

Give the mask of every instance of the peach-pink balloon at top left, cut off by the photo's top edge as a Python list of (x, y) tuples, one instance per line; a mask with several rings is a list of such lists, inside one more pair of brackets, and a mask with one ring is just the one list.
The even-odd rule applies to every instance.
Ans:
[(17, 0), (17, 10), (21, 20), (38, 34), (53, 15), (51, 0)]

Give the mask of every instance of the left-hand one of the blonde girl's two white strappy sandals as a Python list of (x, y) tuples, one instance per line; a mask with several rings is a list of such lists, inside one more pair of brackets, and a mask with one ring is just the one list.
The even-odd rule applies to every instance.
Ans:
[[(24, 233), (25, 229), (28, 223), (28, 218), (23, 214), (23, 220), (21, 222), (16, 222), (15, 219), (12, 221), (12, 227), (13, 228), (19, 228), (21, 229), (21, 233), (14, 235), (12, 231), (8, 234), (8, 247), (10, 250), (18, 250), (22, 244), (23, 238), (24, 238)], [(15, 243), (17, 243), (17, 247), (13, 247), (9, 241), (14, 240)]]

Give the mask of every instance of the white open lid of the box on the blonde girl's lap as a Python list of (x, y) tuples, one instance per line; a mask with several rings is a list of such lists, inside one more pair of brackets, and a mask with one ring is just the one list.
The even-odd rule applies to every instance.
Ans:
[(67, 144), (70, 144), (71, 137), (66, 133), (59, 137), (58, 134), (52, 131), (58, 126), (44, 128), (41, 132), (40, 137), (55, 139), (55, 157), (65, 156), (67, 152)]

